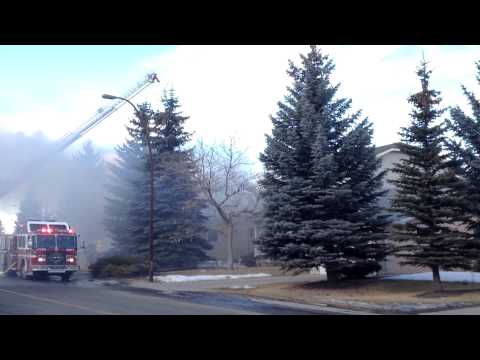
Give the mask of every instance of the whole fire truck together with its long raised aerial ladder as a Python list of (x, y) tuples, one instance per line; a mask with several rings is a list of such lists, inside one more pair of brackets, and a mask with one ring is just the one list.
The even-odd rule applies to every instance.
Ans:
[[(28, 174), (30, 174), (32, 166), (38, 169), (39, 164), (48, 163), (48, 159), (53, 155), (68, 148), (114, 114), (126, 101), (130, 102), (156, 82), (160, 82), (157, 75), (150, 73), (122, 97), (104, 95), (105, 99), (115, 100), (112, 105), (98, 109), (79, 128), (60, 138), (51, 150), (41, 154), (38, 159), (32, 159), (31, 164), (26, 166), (23, 172), (2, 186), (0, 199), (31, 178)], [(24, 231), (21, 233), (0, 234), (0, 273), (13, 272), (22, 278), (60, 275), (64, 281), (68, 281), (78, 270), (77, 235), (65, 222), (27, 221)]]

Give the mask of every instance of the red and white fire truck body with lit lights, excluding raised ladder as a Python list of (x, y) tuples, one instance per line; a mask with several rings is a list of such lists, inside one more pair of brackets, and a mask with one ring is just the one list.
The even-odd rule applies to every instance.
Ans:
[(2, 250), (4, 269), (0, 270), (24, 279), (58, 275), (68, 281), (80, 270), (77, 234), (66, 222), (27, 221), (23, 231), (1, 237)]

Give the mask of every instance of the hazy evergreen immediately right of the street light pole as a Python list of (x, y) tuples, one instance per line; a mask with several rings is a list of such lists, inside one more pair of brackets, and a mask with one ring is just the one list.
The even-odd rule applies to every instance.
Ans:
[(185, 149), (191, 136), (184, 130), (188, 117), (182, 116), (173, 90), (162, 97), (162, 103), (164, 111), (154, 115), (157, 262), (188, 267), (209, 258), (206, 251), (211, 245), (204, 226), (207, 204), (194, 181), (192, 149)]

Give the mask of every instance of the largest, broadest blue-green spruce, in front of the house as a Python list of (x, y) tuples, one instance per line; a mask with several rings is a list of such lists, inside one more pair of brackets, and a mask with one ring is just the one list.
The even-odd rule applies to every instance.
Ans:
[(265, 221), (260, 248), (286, 268), (324, 266), (329, 281), (377, 271), (387, 253), (377, 205), (383, 173), (368, 120), (336, 98), (334, 64), (315, 46), (290, 62), (293, 86), (272, 117), (260, 160)]

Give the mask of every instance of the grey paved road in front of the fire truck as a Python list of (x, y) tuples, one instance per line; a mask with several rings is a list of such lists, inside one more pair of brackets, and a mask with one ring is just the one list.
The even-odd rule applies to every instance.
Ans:
[[(339, 314), (341, 311), (338, 312)], [(0, 277), (1, 315), (308, 315), (334, 310), (253, 301), (214, 293), (160, 291), (121, 285), (105, 286), (77, 274), (71, 282)]]

